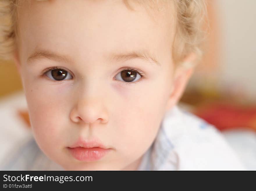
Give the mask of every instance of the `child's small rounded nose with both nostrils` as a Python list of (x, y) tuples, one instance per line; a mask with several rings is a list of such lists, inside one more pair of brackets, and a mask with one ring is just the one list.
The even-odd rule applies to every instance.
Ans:
[(103, 105), (103, 99), (98, 97), (81, 97), (70, 113), (70, 118), (76, 123), (106, 123), (108, 113)]

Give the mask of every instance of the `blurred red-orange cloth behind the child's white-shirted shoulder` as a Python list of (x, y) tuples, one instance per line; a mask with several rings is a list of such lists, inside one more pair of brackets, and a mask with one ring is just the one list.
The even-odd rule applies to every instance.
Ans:
[(256, 106), (236, 106), (225, 103), (209, 103), (193, 112), (220, 131), (234, 128), (249, 128), (256, 131)]

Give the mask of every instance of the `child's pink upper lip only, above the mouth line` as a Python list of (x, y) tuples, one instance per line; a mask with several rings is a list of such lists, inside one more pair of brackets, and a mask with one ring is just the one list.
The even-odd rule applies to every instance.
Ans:
[(102, 149), (108, 149), (104, 144), (102, 144), (101, 141), (99, 141), (96, 138), (93, 138), (90, 140), (83, 140), (82, 138), (79, 138), (79, 140), (74, 144), (72, 144), (69, 148), (75, 148), (75, 147), (84, 147), (84, 148), (100, 147)]

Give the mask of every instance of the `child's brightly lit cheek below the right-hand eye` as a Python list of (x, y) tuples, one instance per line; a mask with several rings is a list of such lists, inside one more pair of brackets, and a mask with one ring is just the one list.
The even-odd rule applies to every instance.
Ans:
[[(126, 90), (121, 99), (115, 99), (116, 145), (120, 146), (123, 155), (139, 155), (154, 141), (165, 112), (168, 92), (166, 84), (144, 83)], [(156, 88), (157, 87), (157, 88)], [(127, 88), (128, 89), (128, 88)], [(131, 88), (130, 88), (131, 89)], [(138, 89), (137, 91), (134, 91)], [(122, 135), (122, 136), (120, 136)], [(127, 156), (127, 157), (128, 157)]]

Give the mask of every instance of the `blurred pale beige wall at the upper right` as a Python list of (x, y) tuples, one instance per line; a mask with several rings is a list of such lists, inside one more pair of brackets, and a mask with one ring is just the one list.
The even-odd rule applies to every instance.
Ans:
[(222, 36), (220, 83), (256, 100), (256, 1), (216, 1)]

